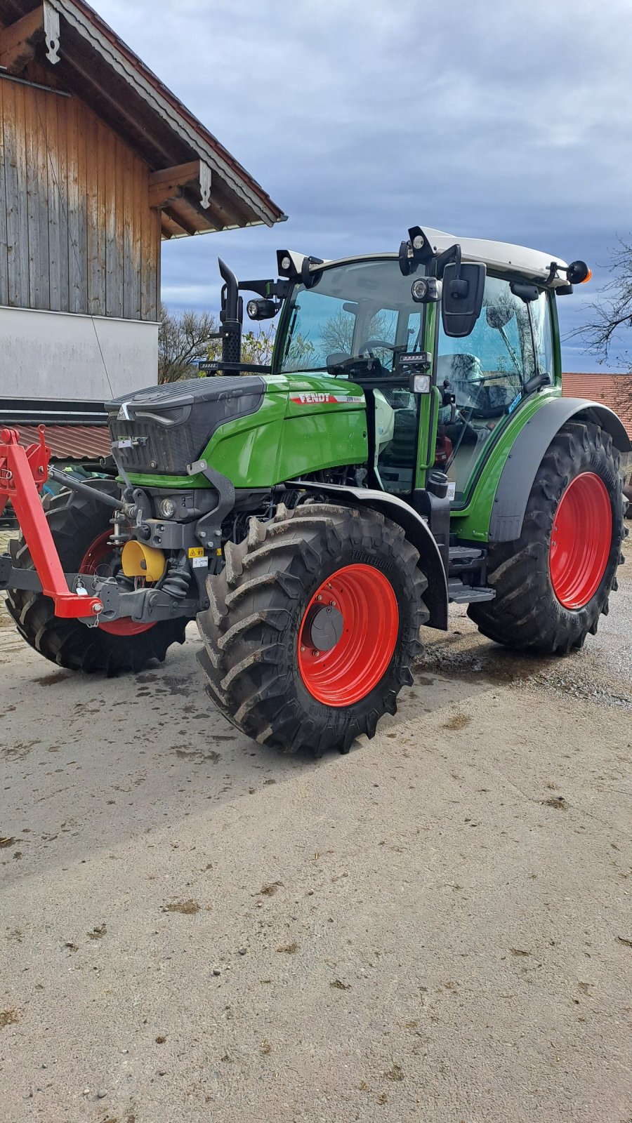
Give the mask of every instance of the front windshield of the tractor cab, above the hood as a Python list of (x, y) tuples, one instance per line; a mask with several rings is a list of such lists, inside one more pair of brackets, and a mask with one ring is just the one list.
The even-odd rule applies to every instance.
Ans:
[[(421, 274), (419, 274), (421, 275)], [(322, 371), (337, 358), (369, 355), (385, 371), (405, 350), (422, 350), (423, 310), (398, 262), (350, 262), (323, 270), (313, 289), (297, 284), (277, 371)]]

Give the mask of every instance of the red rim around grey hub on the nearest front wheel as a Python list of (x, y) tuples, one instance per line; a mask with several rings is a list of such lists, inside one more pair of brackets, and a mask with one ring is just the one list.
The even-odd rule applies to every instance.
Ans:
[[(342, 634), (327, 650), (314, 647), (314, 613), (342, 615)], [(399, 610), (392, 585), (370, 565), (336, 569), (316, 590), (298, 633), (298, 667), (305, 686), (324, 705), (353, 705), (370, 694), (395, 651)]]

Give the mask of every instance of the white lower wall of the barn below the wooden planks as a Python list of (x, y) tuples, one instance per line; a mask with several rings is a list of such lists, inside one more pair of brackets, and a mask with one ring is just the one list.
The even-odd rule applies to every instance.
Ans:
[(157, 332), (146, 320), (0, 307), (0, 396), (107, 401), (155, 385)]

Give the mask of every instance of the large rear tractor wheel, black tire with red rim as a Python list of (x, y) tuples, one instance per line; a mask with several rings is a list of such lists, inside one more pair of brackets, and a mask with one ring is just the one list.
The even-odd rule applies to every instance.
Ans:
[(595, 424), (566, 424), (538, 469), (521, 537), (489, 548), (496, 597), (468, 609), (479, 631), (541, 655), (583, 647), (617, 587), (625, 505), (612, 438)]

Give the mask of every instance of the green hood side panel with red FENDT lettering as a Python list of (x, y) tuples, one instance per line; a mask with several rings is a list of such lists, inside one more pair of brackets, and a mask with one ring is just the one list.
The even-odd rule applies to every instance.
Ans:
[[(270, 487), (306, 473), (368, 458), (364, 395), (327, 374), (265, 375), (255, 413), (220, 426), (200, 458), (235, 487)], [(139, 487), (208, 487), (204, 475), (130, 475)]]

